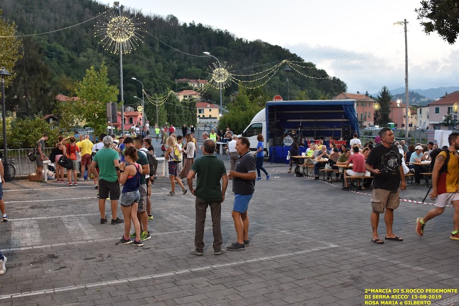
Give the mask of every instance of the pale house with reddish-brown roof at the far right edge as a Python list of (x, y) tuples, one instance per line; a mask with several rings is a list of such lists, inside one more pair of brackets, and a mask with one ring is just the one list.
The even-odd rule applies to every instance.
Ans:
[[(456, 114), (453, 112), (453, 104), (459, 103), (459, 91), (441, 97), (439, 100), (427, 104), (429, 107), (429, 129), (434, 130), (447, 130), (447, 126), (442, 126), (444, 117), (450, 113), (453, 116)], [(457, 120), (456, 120), (457, 121)], [(451, 127), (452, 128), (452, 125)]]

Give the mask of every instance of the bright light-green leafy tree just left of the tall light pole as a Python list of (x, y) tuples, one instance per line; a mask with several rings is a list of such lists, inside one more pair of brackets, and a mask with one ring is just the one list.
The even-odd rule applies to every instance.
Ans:
[(99, 72), (94, 66), (86, 70), (83, 81), (75, 84), (77, 96), (80, 98), (75, 103), (81, 119), (94, 128), (94, 134), (107, 131), (107, 106), (106, 103), (117, 100), (118, 89), (108, 84), (107, 67), (102, 62)]

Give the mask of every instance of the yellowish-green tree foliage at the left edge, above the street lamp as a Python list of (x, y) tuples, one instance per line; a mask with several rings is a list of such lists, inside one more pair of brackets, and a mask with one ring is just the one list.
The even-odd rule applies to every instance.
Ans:
[(22, 57), (22, 54), (19, 53), (22, 42), (18, 37), (14, 37), (17, 35), (14, 21), (10, 24), (2, 17), (2, 14), (3, 11), (0, 10), (0, 36), (4, 36), (0, 39), (0, 63), (12, 74), (11, 77), (5, 79), (5, 87), (8, 87), (16, 77), (13, 67)]

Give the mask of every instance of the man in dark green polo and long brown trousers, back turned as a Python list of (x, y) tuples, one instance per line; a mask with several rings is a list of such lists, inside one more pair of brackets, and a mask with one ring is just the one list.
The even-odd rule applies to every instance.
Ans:
[[(204, 155), (194, 161), (187, 176), (188, 186), (193, 188), (193, 178), (197, 174), (196, 189), (191, 189), (191, 193), (196, 196), (196, 234), (194, 237), (196, 248), (191, 250), (191, 254), (198, 256), (204, 254), (204, 224), (207, 206), (210, 206), (213, 250), (215, 255), (220, 255), (225, 251), (221, 248), (223, 238), (221, 237), (220, 220), (221, 202), (224, 201), (228, 178), (223, 162), (213, 154), (215, 142), (210, 139), (204, 140), (202, 152)], [(220, 178), (222, 180), (221, 186)]]

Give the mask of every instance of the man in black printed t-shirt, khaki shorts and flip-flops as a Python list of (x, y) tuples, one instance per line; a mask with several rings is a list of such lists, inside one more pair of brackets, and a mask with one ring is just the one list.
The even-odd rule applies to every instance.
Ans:
[[(395, 137), (390, 128), (383, 128), (379, 131), (381, 145), (375, 146), (370, 150), (370, 154), (365, 162), (365, 170), (373, 174), (373, 192), (371, 193), (371, 227), (373, 237), (371, 241), (375, 244), (383, 244), (384, 241), (379, 239), (377, 226), (379, 223), (379, 214), (386, 214), (386, 240), (403, 241), (392, 232), (392, 223), (394, 221), (394, 209), (400, 205), (400, 189), (405, 190), (406, 182), (403, 174), (402, 159), (400, 158), (399, 149), (394, 145)], [(402, 180), (401, 183), (400, 180)]]

